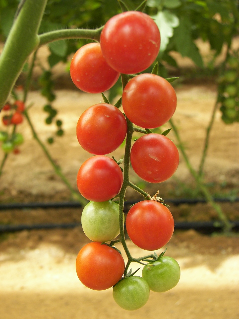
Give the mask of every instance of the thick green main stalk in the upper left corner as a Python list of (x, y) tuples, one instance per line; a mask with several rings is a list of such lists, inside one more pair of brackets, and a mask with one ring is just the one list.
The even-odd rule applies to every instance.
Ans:
[[(0, 110), (28, 58), (38, 47), (38, 30), (47, 0), (25, 0), (0, 55)], [(31, 19), (29, 19), (31, 17)]]

